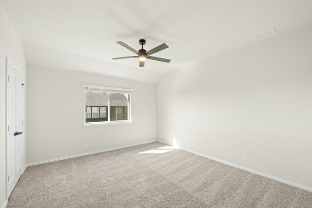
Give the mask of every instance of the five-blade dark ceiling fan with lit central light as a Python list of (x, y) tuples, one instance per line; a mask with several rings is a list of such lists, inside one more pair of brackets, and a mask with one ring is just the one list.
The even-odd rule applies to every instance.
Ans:
[(137, 54), (136, 57), (117, 57), (117, 58), (112, 58), (114, 60), (116, 59), (123, 59), (123, 58), (138, 58), (139, 61), (140, 61), (140, 64), (139, 64), (139, 67), (143, 67), (144, 66), (144, 63), (145, 63), (145, 60), (146, 59), (151, 59), (151, 60), (156, 60), (156, 61), (162, 61), (162, 62), (166, 62), (166, 63), (169, 63), (171, 60), (170, 59), (166, 59), (166, 58), (159, 58), (159, 57), (151, 57), (150, 55), (152, 54), (155, 54), (161, 50), (164, 50), (166, 48), (169, 48), (168, 45), (166, 45), (165, 43), (161, 44), (161, 45), (158, 45), (157, 47), (149, 50), (149, 51), (146, 51), (143, 49), (143, 45), (145, 45), (146, 41), (144, 39), (140, 39), (139, 40), (139, 44), (142, 45), (142, 48), (138, 51), (136, 51), (135, 49), (131, 48), (129, 45), (125, 44), (124, 42), (122, 41), (118, 41), (117, 42), (119, 45), (125, 47), (126, 49), (132, 51), (133, 53)]

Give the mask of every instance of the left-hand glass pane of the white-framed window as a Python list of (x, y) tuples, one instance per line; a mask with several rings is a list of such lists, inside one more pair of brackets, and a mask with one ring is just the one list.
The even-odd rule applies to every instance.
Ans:
[(108, 121), (109, 94), (98, 91), (85, 92), (86, 122)]

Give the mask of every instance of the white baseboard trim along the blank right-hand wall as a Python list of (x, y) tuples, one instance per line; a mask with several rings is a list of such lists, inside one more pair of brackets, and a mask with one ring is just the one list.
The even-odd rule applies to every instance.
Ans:
[[(165, 141), (162, 141), (162, 140), (157, 140), (157, 142), (159, 143), (162, 143), (162, 144), (166, 144), (166, 145), (172, 145), (172, 144), (169, 144), (168, 142), (165, 142)], [(188, 152), (191, 152), (193, 154), (197, 154), (199, 156), (202, 156), (202, 157), (206, 157), (208, 159), (212, 159), (212, 160), (215, 160), (217, 162), (220, 162), (220, 163), (224, 163), (226, 165), (229, 165), (229, 166), (233, 166), (235, 168), (239, 168), (239, 169), (242, 169), (242, 170), (246, 170), (248, 172), (252, 172), (252, 173), (255, 173), (257, 175), (261, 175), (261, 176), (264, 176), (266, 178), (270, 178), (270, 179), (273, 179), (275, 181), (279, 181), (279, 182), (282, 182), (284, 184), (288, 184), (288, 185), (291, 185), (291, 186), (294, 186), (294, 187), (297, 187), (297, 188), (300, 188), (300, 189), (304, 189), (304, 190), (307, 190), (307, 191), (311, 191), (312, 192), (312, 188), (311, 187), (307, 187), (307, 186), (304, 186), (302, 184), (298, 184), (298, 183), (295, 183), (295, 182), (292, 182), (292, 181), (288, 181), (288, 180), (285, 180), (285, 179), (282, 179), (282, 178), (279, 178), (279, 177), (276, 177), (276, 176), (273, 176), (273, 175), (269, 175), (267, 173), (264, 173), (264, 172), (260, 172), (258, 170), (254, 170), (254, 169), (250, 169), (250, 168), (246, 168), (244, 166), (240, 166), (240, 165), (237, 165), (235, 163), (231, 163), (231, 162), (228, 162), (228, 161), (225, 161), (225, 160), (221, 160), (219, 158), (216, 158), (216, 157), (213, 157), (213, 156), (210, 156), (210, 155), (207, 155), (207, 154), (202, 154), (202, 153), (199, 153), (197, 151), (192, 151), (192, 150), (188, 150), (188, 149), (185, 149), (185, 148), (180, 148), (181, 150), (184, 150), (184, 151), (188, 151)]]

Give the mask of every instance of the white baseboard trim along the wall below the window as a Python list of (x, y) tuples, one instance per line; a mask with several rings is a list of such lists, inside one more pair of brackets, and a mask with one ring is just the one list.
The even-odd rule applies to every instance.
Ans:
[[(147, 142), (141, 142), (141, 143), (137, 143), (137, 144), (131, 144), (131, 145), (124, 145), (124, 146), (119, 146), (119, 147), (113, 147), (113, 148), (104, 149), (104, 150), (89, 151), (89, 152), (84, 152), (84, 153), (80, 153), (80, 154), (74, 154), (74, 155), (69, 155), (69, 156), (64, 156), (64, 157), (57, 157), (57, 158), (53, 158), (53, 159), (49, 159), (49, 160), (43, 160), (43, 161), (28, 163), (28, 164), (26, 164), (26, 168), (29, 167), (29, 166), (35, 166), (35, 165), (44, 164), (44, 163), (50, 163), (50, 162), (55, 162), (55, 161), (59, 161), (59, 160), (66, 160), (66, 159), (70, 159), (70, 158), (74, 158), (74, 157), (81, 157), (81, 156), (85, 156), (85, 155), (89, 155), (89, 154), (96, 154), (96, 153), (105, 152), (105, 151), (118, 150), (118, 149), (122, 149), (122, 148), (127, 148), (127, 147), (132, 147), (132, 146), (137, 146), (137, 145), (148, 144), (148, 143), (152, 143), (152, 142), (157, 142), (157, 140), (150, 140), (150, 141), (147, 141)], [(25, 169), (26, 169), (26, 168), (25, 168)]]

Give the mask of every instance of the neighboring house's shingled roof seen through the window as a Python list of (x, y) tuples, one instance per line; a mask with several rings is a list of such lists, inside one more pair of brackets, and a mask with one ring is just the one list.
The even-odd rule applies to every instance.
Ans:
[[(108, 94), (86, 92), (86, 106), (108, 106)], [(128, 106), (128, 99), (123, 94), (111, 94), (110, 106)]]

